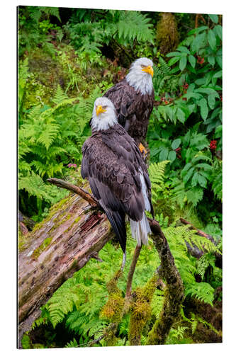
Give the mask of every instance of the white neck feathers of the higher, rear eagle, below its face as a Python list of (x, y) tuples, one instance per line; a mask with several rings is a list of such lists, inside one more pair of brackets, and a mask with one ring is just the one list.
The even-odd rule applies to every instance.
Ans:
[(140, 91), (142, 95), (150, 95), (152, 93), (153, 85), (152, 76), (150, 74), (144, 74), (143, 72), (130, 69), (130, 72), (126, 75), (126, 81), (135, 91)]

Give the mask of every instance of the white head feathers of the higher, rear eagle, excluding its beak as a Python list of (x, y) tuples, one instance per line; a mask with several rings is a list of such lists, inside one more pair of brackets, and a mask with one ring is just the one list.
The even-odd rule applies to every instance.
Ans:
[(153, 62), (148, 58), (139, 58), (131, 64), (130, 71), (126, 75), (126, 80), (136, 91), (142, 95), (152, 93), (152, 76), (143, 70), (143, 67), (153, 66)]

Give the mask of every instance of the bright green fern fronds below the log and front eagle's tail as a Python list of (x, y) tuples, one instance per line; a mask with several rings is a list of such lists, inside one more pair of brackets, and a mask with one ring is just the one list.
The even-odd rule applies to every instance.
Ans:
[[(163, 225), (164, 234), (167, 236), (169, 247), (174, 256), (174, 261), (181, 273), (184, 281), (186, 296), (193, 296), (208, 304), (213, 304), (214, 288), (207, 282), (196, 282), (194, 275), (203, 274), (203, 261), (196, 261), (195, 258), (189, 258), (186, 242), (190, 245), (196, 245), (199, 249), (206, 251), (205, 259), (213, 259), (212, 252), (219, 252), (208, 239), (198, 236), (195, 230), (189, 230), (184, 227), (166, 227)], [(120, 295), (124, 297), (126, 279), (129, 266), (133, 257), (135, 241), (128, 231), (127, 255), (128, 259), (125, 265), (124, 275), (118, 280), (118, 290)], [(103, 262), (91, 259), (81, 270), (74, 273), (72, 278), (68, 279), (63, 285), (52, 295), (50, 300), (43, 306), (40, 319), (33, 324), (41, 326), (42, 324), (52, 324), (57, 329), (58, 324), (63, 324), (65, 328), (74, 333), (74, 340), (67, 344), (68, 346), (87, 346), (88, 343), (99, 338), (108, 327), (108, 319), (101, 316), (101, 311), (108, 300), (107, 283), (117, 272), (121, 259), (122, 251), (113, 246), (111, 242), (106, 244), (99, 253), (99, 257)], [(111, 263), (111, 259), (113, 262)], [(206, 263), (206, 262), (205, 262)], [(205, 264), (204, 263), (204, 264)], [(211, 264), (208, 262), (208, 264)], [(202, 264), (202, 265), (201, 265)], [(133, 290), (142, 292), (147, 281), (152, 277), (154, 270), (159, 265), (157, 251), (149, 242), (148, 246), (142, 248), (140, 258), (135, 269), (135, 277), (133, 278)], [(204, 268), (206, 269), (206, 267)], [(162, 310), (164, 301), (164, 292), (155, 290), (151, 301), (150, 311), (152, 315), (158, 318)], [(118, 324), (118, 343), (122, 338), (122, 344), (129, 345), (128, 328), (130, 326), (130, 314), (125, 314)], [(184, 330), (179, 327), (172, 331), (173, 338), (180, 338), (184, 335)], [(172, 338), (172, 340), (174, 340)], [(182, 338), (182, 337), (181, 337)], [(145, 341), (145, 338), (142, 339)], [(143, 342), (144, 343), (144, 342)], [(102, 340), (100, 346), (106, 346), (106, 341)]]

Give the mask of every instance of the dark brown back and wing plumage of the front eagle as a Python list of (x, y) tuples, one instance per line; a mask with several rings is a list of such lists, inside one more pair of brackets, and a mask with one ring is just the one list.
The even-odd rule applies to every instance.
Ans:
[(140, 151), (123, 127), (116, 125), (116, 130), (96, 132), (87, 139), (82, 153), (82, 177), (89, 180), (92, 193), (106, 212), (125, 251), (125, 214), (139, 221), (145, 212), (140, 171), (150, 192), (147, 168)]

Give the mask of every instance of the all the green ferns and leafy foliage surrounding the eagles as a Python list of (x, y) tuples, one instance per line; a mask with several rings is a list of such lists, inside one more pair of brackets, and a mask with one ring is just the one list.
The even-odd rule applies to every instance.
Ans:
[[(50, 205), (67, 194), (47, 184), (48, 177), (77, 183), (81, 148), (91, 134), (88, 123), (95, 99), (122, 77), (123, 67), (128, 67), (133, 59), (150, 57), (154, 61), (156, 102), (147, 140), (154, 214), (181, 274), (185, 296), (212, 305), (215, 289), (222, 282), (222, 270), (215, 266), (215, 253), (222, 251), (222, 161), (218, 159), (222, 150), (220, 17), (203, 15), (209, 26), (199, 25), (186, 35), (186, 28), (195, 25), (195, 16), (172, 14), (172, 26), (166, 26), (162, 37), (168, 38), (170, 27), (176, 30), (175, 22), (179, 33), (174, 33), (172, 41), (163, 40), (161, 47), (160, 36), (158, 38), (154, 30), (158, 28), (160, 13), (73, 8), (60, 18), (62, 11), (41, 6), (19, 8), (18, 187), (21, 210), (40, 220), (47, 215)], [(178, 37), (182, 42), (176, 47)], [(168, 45), (174, 52), (164, 56), (164, 46)], [(212, 139), (217, 143), (216, 152), (210, 148)], [(69, 168), (71, 163), (77, 167)], [(185, 217), (212, 235), (217, 246), (187, 226), (179, 226), (179, 217)], [(50, 241), (47, 238), (42, 247), (47, 247)], [(197, 246), (204, 255), (199, 260), (191, 257), (187, 244)], [(128, 259), (124, 275), (117, 283), (120, 303), (125, 296), (134, 249), (135, 241), (128, 229)], [(108, 345), (106, 338), (96, 344), (93, 341), (106, 333), (111, 321), (111, 316), (101, 316), (105, 305), (108, 304), (106, 309), (111, 312), (118, 309), (117, 301), (108, 303), (111, 294), (107, 283), (120, 266), (122, 251), (115, 241), (109, 242), (99, 257), (103, 262), (91, 259), (42, 307), (42, 314), (32, 329), (45, 331), (47, 343), (33, 343), (29, 332), (23, 336), (23, 348), (55, 347), (55, 335), (60, 331), (67, 348)], [(133, 291), (145, 289), (159, 264), (150, 240), (142, 247)], [(155, 290), (150, 307), (148, 305), (150, 319), (142, 328), (141, 345), (145, 345), (153, 321), (159, 318), (163, 301), (164, 291)], [(131, 318), (132, 312), (129, 312), (119, 320), (116, 346), (130, 345)], [(195, 314), (186, 319), (184, 309), (182, 319), (189, 322), (193, 333), (199, 322), (215, 330)], [(181, 319), (171, 329), (167, 343), (193, 343)]]

